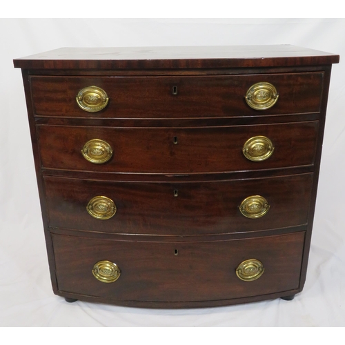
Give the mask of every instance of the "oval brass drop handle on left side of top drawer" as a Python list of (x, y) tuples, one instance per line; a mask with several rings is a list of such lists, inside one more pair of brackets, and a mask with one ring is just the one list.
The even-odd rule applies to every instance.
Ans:
[(97, 112), (106, 108), (109, 98), (106, 91), (97, 86), (88, 86), (78, 92), (78, 106), (87, 112)]

